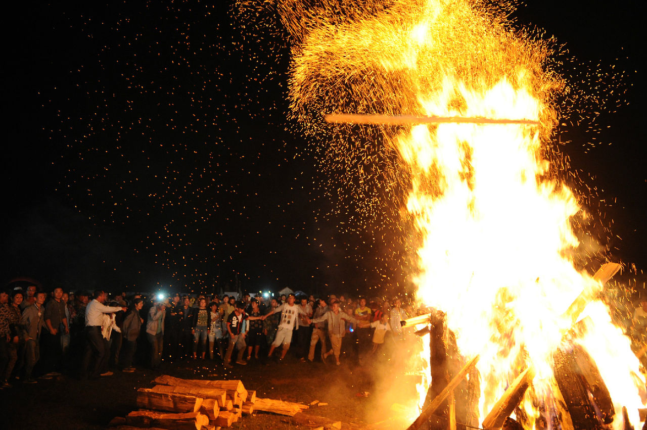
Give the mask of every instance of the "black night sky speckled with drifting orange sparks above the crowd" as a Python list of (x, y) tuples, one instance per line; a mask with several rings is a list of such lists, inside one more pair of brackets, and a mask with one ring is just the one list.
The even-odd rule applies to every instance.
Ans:
[[(234, 19), (230, 2), (212, 3), (25, 1), (5, 15), (3, 279), (132, 290), (224, 286), (235, 274), (249, 290), (388, 284), (377, 241), (336, 234), (320, 217), (331, 205), (322, 173), (286, 119), (287, 48)], [(595, 124), (558, 138), (603, 200), (592, 210), (617, 235), (613, 253), (645, 268), (639, 2), (531, 3), (518, 21), (565, 43), (573, 76), (600, 70), (602, 94), (622, 77), (626, 92), (603, 97)], [(329, 237), (340, 243), (320, 246)]]

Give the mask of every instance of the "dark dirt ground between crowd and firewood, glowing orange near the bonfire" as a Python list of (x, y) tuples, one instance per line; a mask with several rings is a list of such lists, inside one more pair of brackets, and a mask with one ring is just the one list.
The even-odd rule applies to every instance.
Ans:
[[(415, 392), (414, 383), (405, 374), (406, 369), (395, 371), (392, 366), (378, 367), (369, 360), (360, 366), (352, 361), (342, 356), (340, 366), (334, 365), (331, 358), (327, 364), (300, 363), (289, 355), (283, 363), (263, 363), (252, 358), (247, 366), (224, 369), (223, 365), (210, 360), (176, 360), (173, 363), (166, 360), (155, 371), (138, 367), (134, 373), (114, 371), (113, 376), (94, 381), (78, 380), (65, 372), (51, 380), (38, 380), (33, 385), (16, 382), (12, 389), (0, 390), (0, 399), (5, 405), (0, 429), (105, 429), (115, 416), (125, 416), (137, 409), (137, 389), (153, 387), (153, 380), (161, 374), (193, 379), (237, 379), (242, 380), (248, 390), (256, 390), (258, 397), (305, 404), (319, 400), (328, 405), (304, 412), (357, 425), (372, 424), (393, 414), (385, 405), (403, 401), (401, 391), (393, 391), (394, 383), (404, 385), (407, 394)], [(362, 392), (369, 395), (359, 396)], [(384, 402), (375, 402), (377, 399)], [(243, 416), (232, 428), (307, 427), (291, 424), (284, 416), (258, 413)]]

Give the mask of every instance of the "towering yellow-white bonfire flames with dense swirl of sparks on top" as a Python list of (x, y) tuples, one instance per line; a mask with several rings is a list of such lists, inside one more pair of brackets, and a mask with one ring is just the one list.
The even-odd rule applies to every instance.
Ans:
[[(295, 41), (290, 96), (298, 118), (354, 112), (540, 122), (386, 127), (382, 138), (410, 178), (406, 216), (422, 237), (417, 298), (446, 313), (461, 354), (479, 355), (481, 420), (529, 365), (531, 391), (550, 398), (553, 353), (573, 323), (564, 312), (580, 292), (602, 285), (575, 268), (572, 219), (582, 209), (546, 156), (563, 86), (546, 66), (547, 43), (475, 1), (304, 4), (278, 7)], [(626, 406), (639, 427), (644, 378), (630, 342), (602, 303), (584, 314), (593, 323), (576, 341), (616, 402), (615, 426)], [(424, 399), (426, 387), (420, 391)], [(528, 398), (523, 406), (534, 415)]]

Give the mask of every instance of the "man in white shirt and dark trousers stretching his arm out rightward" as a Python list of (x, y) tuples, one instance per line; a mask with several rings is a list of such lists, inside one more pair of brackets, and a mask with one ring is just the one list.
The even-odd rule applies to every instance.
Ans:
[[(102, 290), (94, 292), (94, 299), (88, 303), (85, 308), (85, 354), (81, 363), (81, 379), (96, 379), (99, 376), (109, 376), (111, 372), (105, 372), (100, 375), (104, 360), (107, 360), (109, 348), (108, 343), (102, 335), (102, 325), (104, 323), (104, 314), (118, 312), (127, 308), (122, 306), (105, 306), (104, 302), (107, 293)], [(94, 357), (92, 371), (88, 374), (90, 361)]]

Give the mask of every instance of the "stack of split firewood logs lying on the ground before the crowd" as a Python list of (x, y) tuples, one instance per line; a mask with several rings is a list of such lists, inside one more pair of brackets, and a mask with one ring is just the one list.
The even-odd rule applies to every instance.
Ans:
[(185, 380), (162, 375), (153, 388), (137, 390), (137, 411), (117, 417), (120, 430), (155, 427), (168, 430), (201, 430), (231, 427), (243, 414), (256, 411), (294, 417), (307, 405), (256, 398), (237, 380)]

